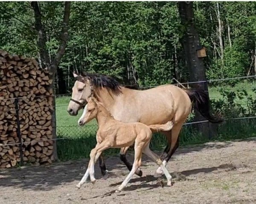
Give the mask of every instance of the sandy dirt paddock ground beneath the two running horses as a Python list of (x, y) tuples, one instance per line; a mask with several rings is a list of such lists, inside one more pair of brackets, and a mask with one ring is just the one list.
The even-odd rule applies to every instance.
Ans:
[(174, 172), (172, 187), (163, 186), (164, 177), (152, 176), (156, 164), (145, 157), (143, 161), (143, 176), (134, 176), (121, 193), (112, 193), (128, 174), (118, 157), (106, 159), (107, 180), (96, 165), (96, 184), (86, 183), (79, 190), (84, 160), (2, 169), (0, 203), (256, 203), (256, 139), (179, 148), (167, 166)]

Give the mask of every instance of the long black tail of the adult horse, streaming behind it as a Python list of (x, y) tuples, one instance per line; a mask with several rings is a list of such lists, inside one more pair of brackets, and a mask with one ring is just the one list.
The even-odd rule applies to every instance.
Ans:
[(199, 111), (209, 122), (220, 123), (223, 122), (222, 118), (213, 116), (210, 113), (210, 102), (207, 93), (201, 89), (186, 89), (184, 90), (192, 102), (192, 107)]

